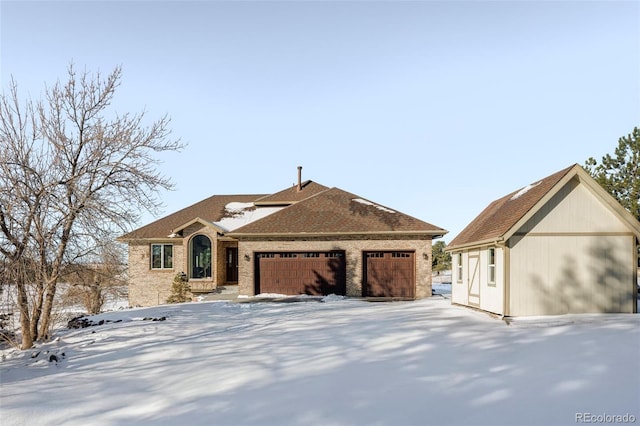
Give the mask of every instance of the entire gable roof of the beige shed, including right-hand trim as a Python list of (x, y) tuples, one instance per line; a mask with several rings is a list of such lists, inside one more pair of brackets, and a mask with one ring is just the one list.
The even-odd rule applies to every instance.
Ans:
[(493, 201), (449, 243), (447, 250), (507, 240), (574, 177), (578, 177), (581, 183), (586, 184), (621, 219), (628, 222), (640, 238), (638, 221), (580, 165), (574, 164)]

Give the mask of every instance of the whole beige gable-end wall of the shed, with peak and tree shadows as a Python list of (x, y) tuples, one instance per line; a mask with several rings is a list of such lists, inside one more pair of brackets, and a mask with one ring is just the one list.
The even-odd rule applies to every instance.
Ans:
[(634, 311), (635, 236), (569, 182), (509, 240), (509, 315)]

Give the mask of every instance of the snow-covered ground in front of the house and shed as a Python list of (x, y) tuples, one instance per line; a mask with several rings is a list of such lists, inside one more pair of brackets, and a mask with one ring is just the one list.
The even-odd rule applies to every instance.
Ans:
[(126, 309), (6, 350), (0, 423), (640, 422), (639, 315), (507, 324), (446, 294), (306, 300)]

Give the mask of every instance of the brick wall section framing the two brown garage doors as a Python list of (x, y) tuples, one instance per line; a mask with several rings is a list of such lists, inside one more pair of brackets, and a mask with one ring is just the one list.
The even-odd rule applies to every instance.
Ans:
[[(422, 238), (422, 239), (420, 239)], [(431, 296), (431, 237), (372, 239), (360, 237), (348, 240), (307, 239), (304, 241), (240, 241), (238, 244), (238, 292), (255, 294), (255, 253), (277, 251), (344, 250), (347, 266), (347, 296), (362, 296), (363, 251), (415, 251), (416, 298)], [(427, 258), (425, 259), (424, 255)], [(247, 260), (249, 259), (249, 260)]]

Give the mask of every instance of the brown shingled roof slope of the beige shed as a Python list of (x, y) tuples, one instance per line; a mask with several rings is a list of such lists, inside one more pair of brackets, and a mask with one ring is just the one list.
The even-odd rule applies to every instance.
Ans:
[(580, 166), (572, 165), (495, 200), (449, 243), (447, 250), (503, 237), (575, 167)]

